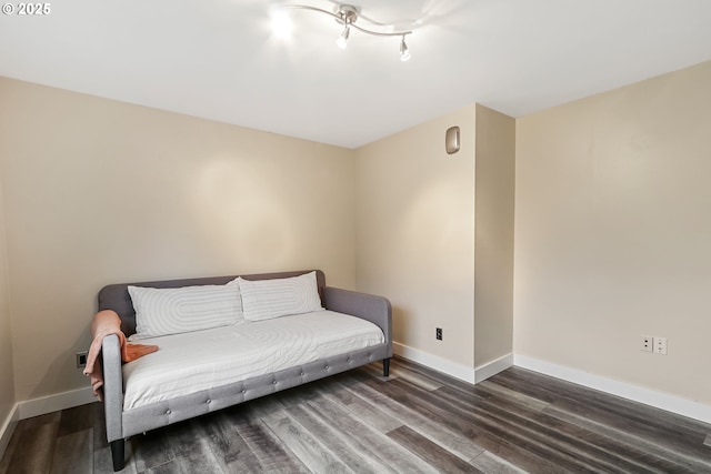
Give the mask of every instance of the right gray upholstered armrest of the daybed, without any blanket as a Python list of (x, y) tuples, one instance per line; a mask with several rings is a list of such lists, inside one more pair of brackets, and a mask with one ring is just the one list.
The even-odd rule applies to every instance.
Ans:
[(324, 286), (323, 304), (327, 310), (362, 317), (380, 326), (389, 346), (388, 356), (392, 356), (392, 307), (387, 297)]

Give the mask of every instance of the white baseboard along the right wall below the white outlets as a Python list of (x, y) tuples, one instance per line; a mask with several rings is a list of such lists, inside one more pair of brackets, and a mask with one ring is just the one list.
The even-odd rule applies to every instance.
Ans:
[(552, 364), (550, 362), (540, 361), (527, 355), (514, 355), (514, 365), (540, 372), (567, 382), (577, 383), (589, 389), (607, 392), (612, 395), (621, 396), (633, 402), (643, 403), (668, 412), (677, 413), (682, 416), (699, 420), (704, 423), (711, 423), (711, 406), (704, 405), (692, 400), (682, 399), (680, 396), (670, 395), (668, 393), (658, 392), (651, 389), (644, 389), (625, 382), (607, 379), (594, 375), (578, 369), (571, 369), (563, 365)]

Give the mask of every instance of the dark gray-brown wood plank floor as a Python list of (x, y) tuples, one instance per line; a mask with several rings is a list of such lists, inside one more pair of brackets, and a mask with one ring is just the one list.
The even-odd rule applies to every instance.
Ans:
[[(19, 423), (0, 474), (109, 473), (98, 403)], [(509, 369), (393, 360), (133, 436), (127, 473), (711, 473), (711, 425)]]

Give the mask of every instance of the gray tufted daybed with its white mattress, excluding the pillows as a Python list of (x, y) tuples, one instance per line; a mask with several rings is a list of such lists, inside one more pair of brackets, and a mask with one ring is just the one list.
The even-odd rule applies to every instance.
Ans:
[[(323, 311), (142, 339), (138, 342), (156, 344), (160, 347), (159, 351), (123, 365), (119, 336), (112, 334), (103, 337), (101, 357), (106, 426), (114, 471), (124, 466), (124, 440), (131, 435), (375, 361), (383, 362), (383, 375), (388, 376), (392, 356), (391, 307), (384, 297), (326, 286), (321, 271), (242, 275), (239, 281), (233, 275), (112, 284), (100, 291), (99, 310), (113, 310), (118, 313), (121, 331), (128, 337), (137, 333), (137, 314), (129, 286), (136, 292), (138, 290), (134, 288), (182, 289), (231, 284), (236, 291), (240, 291), (240, 301), (247, 312), (248, 303), (253, 310), (256, 302), (269, 305), (269, 301), (264, 300), (263, 294), (262, 300), (252, 297), (248, 301), (248, 294), (242, 292), (247, 286), (244, 281), (263, 285), (279, 283), (281, 279), (304, 279), (308, 275), (316, 280), (316, 297), (320, 299)], [(242, 282), (241, 286), (236, 281)], [(244, 319), (247, 316), (244, 313)], [(341, 325), (343, 321), (346, 330)], [(141, 325), (140, 317), (138, 324)], [(373, 329), (377, 331), (373, 332)], [(370, 340), (360, 341), (360, 346), (349, 344), (350, 334), (364, 332), (369, 332)], [(374, 333), (377, 339), (373, 339)], [(236, 339), (231, 341), (230, 337)], [(286, 342), (283, 337), (287, 339)], [(300, 343), (308, 344), (312, 340), (318, 342), (319, 337), (326, 337), (327, 341), (311, 344), (296, 356), (288, 350), (294, 342), (299, 346)], [(356, 341), (354, 336), (352, 339)], [(244, 353), (237, 356), (224, 355), (223, 351), (230, 346), (244, 347), (243, 351), (239, 350)], [(260, 352), (261, 346), (269, 349), (254, 359), (254, 353)], [(217, 369), (206, 362), (212, 357)], [(301, 362), (294, 362), (297, 360)], [(239, 371), (230, 372), (238, 365), (242, 365), (242, 375), (236, 375)], [(173, 373), (172, 380), (170, 373)], [(128, 393), (136, 392), (134, 386), (138, 385), (143, 386), (142, 393)]]

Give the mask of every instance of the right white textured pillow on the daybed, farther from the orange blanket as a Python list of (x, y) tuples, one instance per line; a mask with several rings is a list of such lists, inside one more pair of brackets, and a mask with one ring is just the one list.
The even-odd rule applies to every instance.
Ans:
[(289, 279), (238, 279), (247, 321), (262, 321), (290, 314), (321, 311), (316, 272)]

